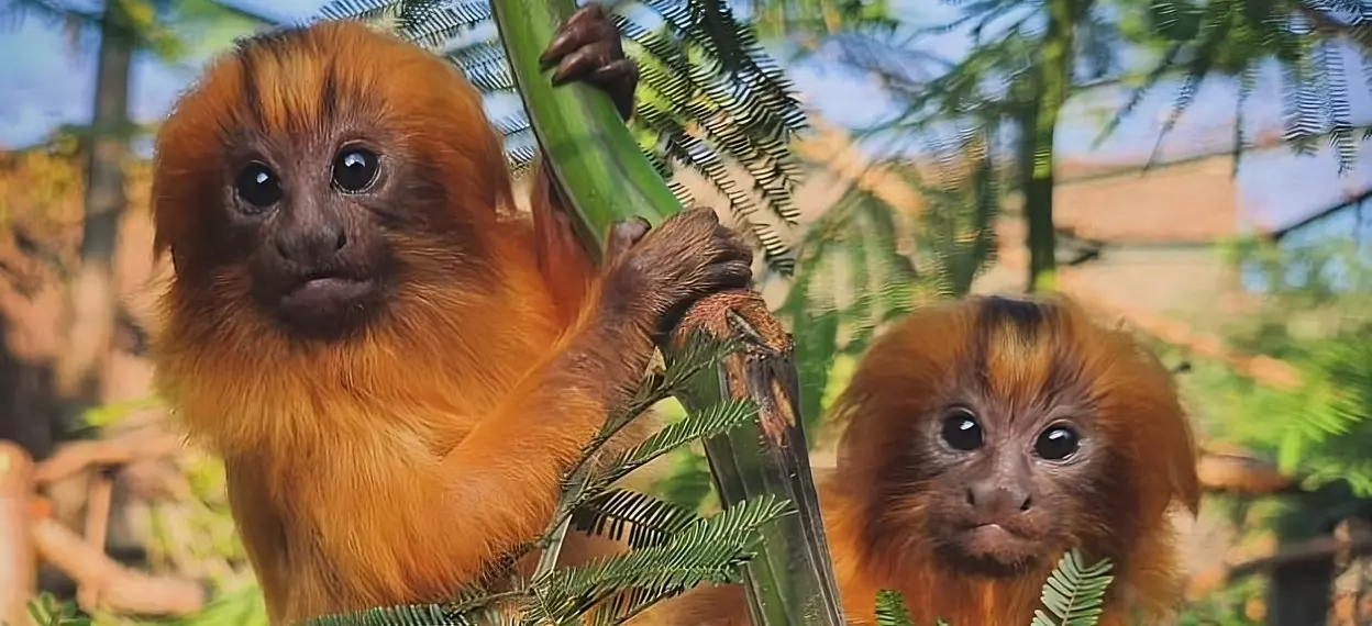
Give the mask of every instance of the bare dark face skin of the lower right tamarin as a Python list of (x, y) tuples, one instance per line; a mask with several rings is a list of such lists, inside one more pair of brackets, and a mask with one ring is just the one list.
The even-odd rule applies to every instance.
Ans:
[[(1059, 399), (1061, 401), (1062, 399)], [(1070, 399), (1069, 399), (1070, 400)], [(1099, 433), (1072, 404), (1017, 405), (967, 396), (923, 421), (919, 481), (941, 558), (967, 573), (1015, 575), (1076, 534), (1098, 467)]]

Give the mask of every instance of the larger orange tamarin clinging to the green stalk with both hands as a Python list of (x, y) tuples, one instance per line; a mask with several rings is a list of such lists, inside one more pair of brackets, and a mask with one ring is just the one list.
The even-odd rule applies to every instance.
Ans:
[[(545, 62), (627, 111), (604, 8)], [(224, 459), (273, 625), (442, 601), (536, 538), (653, 338), (749, 284), (744, 240), (691, 210), (616, 226), (586, 289), (554, 289), (593, 270), (510, 196), (477, 90), (357, 22), (246, 40), (163, 125), (156, 381)]]

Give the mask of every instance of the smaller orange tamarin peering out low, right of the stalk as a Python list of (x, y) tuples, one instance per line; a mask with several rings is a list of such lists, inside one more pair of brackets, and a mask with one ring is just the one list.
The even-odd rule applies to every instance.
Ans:
[[(1172, 375), (1067, 300), (970, 297), (912, 314), (863, 356), (831, 408), (819, 481), (852, 625), (900, 590), (915, 623), (1018, 626), (1072, 547), (1114, 562), (1102, 626), (1173, 623), (1166, 511), (1199, 505)], [(740, 588), (707, 588), (642, 623), (748, 625)]]

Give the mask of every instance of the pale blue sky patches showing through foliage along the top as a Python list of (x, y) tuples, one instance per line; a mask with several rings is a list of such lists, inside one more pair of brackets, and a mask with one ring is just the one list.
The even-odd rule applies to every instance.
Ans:
[[(235, 4), (283, 21), (303, 19), (317, 12), (322, 0), (236, 0)], [(936, 3), (906, 0), (900, 11), (910, 19), (938, 19)], [(921, 15), (915, 15), (915, 8)], [(945, 14), (944, 14), (945, 15)], [(21, 147), (41, 140), (54, 126), (89, 118), (95, 86), (93, 34), (69, 36), (51, 23), (27, 19), (19, 27), (0, 30), (0, 147)], [(226, 40), (225, 40), (226, 44)], [(217, 42), (209, 44), (222, 45)], [(943, 56), (956, 56), (966, 40), (956, 36), (927, 41)], [(22, 59), (22, 60), (21, 60)], [(203, 58), (180, 66), (154, 59), (139, 59), (132, 85), (132, 112), (137, 121), (151, 122), (166, 114), (177, 93), (195, 78)], [(1345, 62), (1350, 78), (1358, 78), (1357, 59)], [(812, 62), (792, 66), (789, 75), (807, 101), (831, 122), (862, 126), (892, 112), (892, 100), (867, 77), (842, 70), (820, 55)], [(1272, 75), (1259, 81), (1244, 111), (1246, 129), (1280, 127), (1279, 85)], [(1062, 156), (1093, 160), (1142, 162), (1158, 140), (1158, 130), (1173, 99), (1174, 86), (1152, 93), (1115, 134), (1099, 149), (1092, 149), (1099, 125), (1122, 101), (1118, 93), (1092, 93), (1074, 99), (1058, 130), (1056, 145)], [(1356, 121), (1372, 119), (1372, 99), (1367, 85), (1350, 85)], [(1207, 82), (1192, 108), (1181, 118), (1163, 153), (1187, 149), (1196, 142), (1213, 145), (1232, 133), (1235, 86), (1225, 81)], [(1268, 151), (1244, 156), (1239, 171), (1240, 199), (1244, 212), (1257, 223), (1280, 226), (1338, 201), (1340, 196), (1372, 188), (1372, 145), (1364, 144), (1362, 162), (1368, 163), (1340, 178), (1332, 155), (1299, 158), (1287, 151)]]

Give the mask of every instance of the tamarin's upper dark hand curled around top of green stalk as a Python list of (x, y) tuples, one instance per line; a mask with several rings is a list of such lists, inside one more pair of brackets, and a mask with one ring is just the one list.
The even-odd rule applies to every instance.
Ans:
[(638, 66), (624, 56), (619, 29), (600, 3), (587, 3), (567, 21), (539, 56), (543, 68), (557, 66), (553, 85), (586, 81), (609, 95), (619, 115), (634, 114)]

